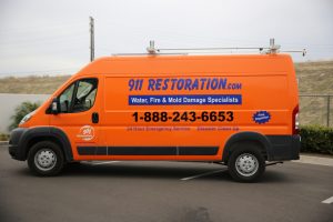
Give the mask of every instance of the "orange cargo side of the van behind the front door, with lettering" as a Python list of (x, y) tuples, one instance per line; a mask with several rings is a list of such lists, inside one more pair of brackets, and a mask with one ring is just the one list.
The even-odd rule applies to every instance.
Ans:
[(295, 87), (287, 57), (145, 58), (110, 61), (102, 70), (101, 154), (79, 159), (220, 161), (235, 133), (291, 134)]

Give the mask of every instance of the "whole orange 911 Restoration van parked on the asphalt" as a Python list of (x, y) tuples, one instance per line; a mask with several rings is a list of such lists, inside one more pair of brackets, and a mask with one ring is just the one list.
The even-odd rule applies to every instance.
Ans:
[(250, 182), (299, 159), (297, 113), (287, 54), (112, 56), (24, 117), (9, 153), (39, 175), (79, 161), (202, 161)]

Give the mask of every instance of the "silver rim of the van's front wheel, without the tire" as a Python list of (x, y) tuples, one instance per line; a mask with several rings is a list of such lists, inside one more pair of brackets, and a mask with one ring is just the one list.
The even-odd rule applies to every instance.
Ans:
[(41, 171), (52, 170), (56, 163), (57, 155), (51, 149), (44, 148), (34, 154), (34, 165)]

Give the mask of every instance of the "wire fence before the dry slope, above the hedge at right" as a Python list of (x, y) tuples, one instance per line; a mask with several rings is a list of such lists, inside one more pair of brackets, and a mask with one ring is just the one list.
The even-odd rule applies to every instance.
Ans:
[(300, 94), (300, 123), (332, 127), (333, 94)]

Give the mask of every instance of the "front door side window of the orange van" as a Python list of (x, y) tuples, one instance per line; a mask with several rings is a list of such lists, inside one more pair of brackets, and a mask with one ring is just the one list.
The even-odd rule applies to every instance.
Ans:
[(97, 79), (81, 79), (69, 85), (59, 97), (61, 113), (84, 112), (95, 100)]

